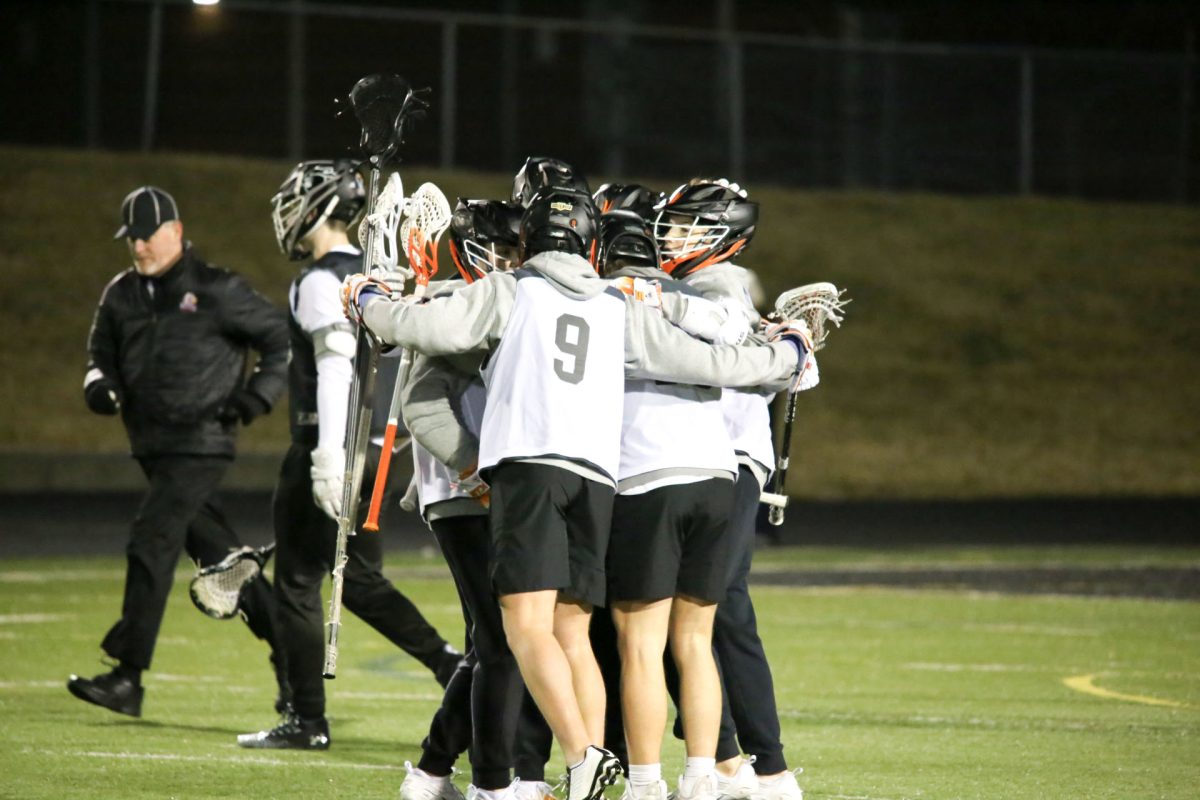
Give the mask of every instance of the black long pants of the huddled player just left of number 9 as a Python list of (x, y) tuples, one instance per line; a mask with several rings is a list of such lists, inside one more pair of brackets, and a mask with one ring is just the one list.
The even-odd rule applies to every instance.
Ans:
[(458, 590), (468, 649), (421, 742), (418, 766), (449, 775), (455, 759), (469, 747), (472, 784), (503, 789), (510, 783), (523, 684), (492, 591), (487, 517), (448, 517), (431, 527)]

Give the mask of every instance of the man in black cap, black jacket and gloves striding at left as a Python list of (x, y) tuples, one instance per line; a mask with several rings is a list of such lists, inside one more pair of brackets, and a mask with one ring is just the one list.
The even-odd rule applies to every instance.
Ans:
[[(175, 200), (160, 188), (131, 192), (116, 239), (133, 266), (106, 287), (88, 341), (84, 398), (97, 414), (121, 414), (150, 488), (133, 521), (121, 619), (102, 648), (116, 667), (67, 688), (104, 708), (140, 716), (149, 669), (180, 551), (200, 565), (240, 546), (214, 494), (234, 456), (239, 421), (270, 410), (287, 387), (284, 313), (242, 278), (200, 260), (184, 241)], [(245, 379), (247, 350), (258, 362)], [(265, 579), (242, 601), (251, 630), (275, 648), (275, 606)], [(281, 709), (282, 710), (282, 709)]]

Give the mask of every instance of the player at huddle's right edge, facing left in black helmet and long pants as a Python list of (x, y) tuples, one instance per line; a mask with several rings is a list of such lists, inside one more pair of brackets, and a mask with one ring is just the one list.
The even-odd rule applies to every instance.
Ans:
[[(680, 186), (656, 206), (654, 235), (662, 270), (708, 299), (739, 303), (746, 320), (756, 325), (760, 317), (740, 267), (730, 259), (750, 242), (757, 221), (758, 204), (746, 199), (737, 184), (697, 179)], [(798, 390), (809, 387), (810, 375), (815, 374), (811, 349), (806, 357), (805, 383), (797, 385)], [(721, 396), (737, 453), (738, 477), (730, 529), (732, 570), (728, 593), (716, 609), (713, 642), (738, 741), (752, 758), (734, 757), (719, 763), (716, 788), (730, 798), (799, 800), (800, 788), (784, 758), (770, 666), (746, 587), (758, 495), (775, 463), (768, 415), (770, 398), (770, 393), (734, 389), (726, 389)]]

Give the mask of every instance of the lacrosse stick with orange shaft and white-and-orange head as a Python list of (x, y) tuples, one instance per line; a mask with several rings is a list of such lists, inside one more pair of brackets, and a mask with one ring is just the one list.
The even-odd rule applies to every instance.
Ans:
[[(438, 242), (442, 234), (450, 227), (450, 203), (433, 184), (421, 184), (408, 199), (408, 212), (401, 225), (401, 241), (406, 242), (409, 270), (416, 277), (414, 297), (424, 297), (430, 278), (438, 271)], [(388, 409), (388, 427), (383, 434), (383, 450), (379, 452), (379, 468), (376, 470), (376, 483), (371, 491), (371, 506), (364, 530), (379, 530), (379, 509), (383, 506), (383, 494), (388, 486), (388, 471), (391, 468), (391, 451), (396, 443), (396, 429), (400, 427), (400, 397), (404, 389), (404, 378), (412, 365), (412, 354), (406, 349), (396, 373), (396, 385), (391, 391), (391, 407)]]

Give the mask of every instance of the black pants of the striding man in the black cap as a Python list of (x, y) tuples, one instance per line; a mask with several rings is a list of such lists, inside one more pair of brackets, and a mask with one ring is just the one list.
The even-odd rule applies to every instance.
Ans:
[[(241, 547), (215, 494), (230, 459), (215, 456), (158, 456), (139, 459), (150, 488), (133, 518), (125, 548), (121, 619), (101, 646), (124, 664), (149, 669), (182, 551), (199, 564), (216, 564)], [(250, 630), (276, 650), (276, 608), (271, 585), (258, 578), (242, 595)], [(278, 656), (272, 656), (277, 661)]]

